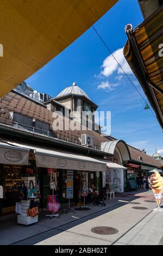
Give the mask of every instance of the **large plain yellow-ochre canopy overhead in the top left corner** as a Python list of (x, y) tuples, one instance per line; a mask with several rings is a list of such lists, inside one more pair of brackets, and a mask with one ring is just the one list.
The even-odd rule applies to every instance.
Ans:
[(118, 0), (1, 0), (0, 97), (82, 35)]

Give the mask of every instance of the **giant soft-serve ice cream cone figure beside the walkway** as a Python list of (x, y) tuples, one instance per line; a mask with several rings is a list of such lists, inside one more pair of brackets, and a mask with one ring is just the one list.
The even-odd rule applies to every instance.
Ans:
[(162, 189), (163, 189), (163, 179), (157, 170), (154, 170), (154, 174), (152, 174), (150, 178), (150, 187), (153, 190), (153, 193), (159, 208)]

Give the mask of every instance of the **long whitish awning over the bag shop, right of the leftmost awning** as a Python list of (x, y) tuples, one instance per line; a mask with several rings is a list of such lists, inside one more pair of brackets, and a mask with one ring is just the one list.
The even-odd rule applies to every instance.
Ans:
[[(11, 142), (10, 142), (11, 143)], [(87, 170), (95, 172), (105, 172), (106, 162), (94, 159), (89, 156), (73, 154), (55, 149), (37, 148), (30, 145), (12, 143), (18, 147), (25, 147), (34, 150), (36, 166), (43, 168), (58, 168), (71, 170)]]

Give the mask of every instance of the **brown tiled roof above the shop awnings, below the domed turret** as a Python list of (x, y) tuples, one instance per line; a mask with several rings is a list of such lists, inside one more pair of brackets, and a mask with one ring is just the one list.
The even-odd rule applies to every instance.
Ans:
[[(12, 120), (9, 115), (9, 111), (14, 111), (16, 113), (21, 113), (31, 118), (35, 118), (37, 120), (48, 123), (51, 126), (51, 130), (54, 131), (56, 135), (59, 136), (60, 139), (67, 140), (69, 142), (80, 144), (79, 138), (81, 134), (86, 133), (88, 135), (93, 136), (94, 146), (99, 148), (101, 147), (101, 143), (104, 141), (108, 141), (105, 137), (101, 136), (96, 131), (66, 131), (66, 130), (56, 130), (56, 126), (53, 123), (54, 118), (52, 117), (52, 112), (48, 110), (45, 106), (40, 103), (36, 103), (28, 97), (24, 97), (15, 92), (10, 92), (4, 97), (0, 99), (0, 123), (12, 125)], [(4, 109), (4, 110), (2, 110)], [(62, 120), (62, 117), (59, 117), (59, 120)], [(68, 126), (72, 120), (64, 118), (64, 126)], [(73, 122), (73, 121), (72, 121)], [(53, 125), (52, 125), (53, 124)]]

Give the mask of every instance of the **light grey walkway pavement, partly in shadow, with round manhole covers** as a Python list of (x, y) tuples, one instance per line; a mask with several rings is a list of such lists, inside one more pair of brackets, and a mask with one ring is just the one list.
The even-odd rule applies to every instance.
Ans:
[[(152, 191), (117, 193), (106, 206), (64, 213), (59, 219), (41, 213), (39, 222), (29, 227), (16, 219), (0, 222), (0, 245), (161, 245), (163, 211), (153, 211), (155, 207)], [(92, 233), (97, 226), (116, 228), (118, 233)]]

